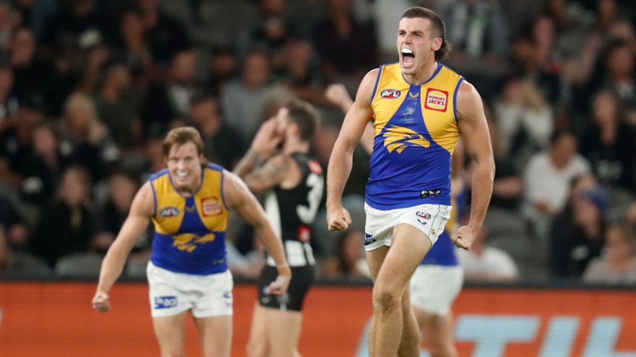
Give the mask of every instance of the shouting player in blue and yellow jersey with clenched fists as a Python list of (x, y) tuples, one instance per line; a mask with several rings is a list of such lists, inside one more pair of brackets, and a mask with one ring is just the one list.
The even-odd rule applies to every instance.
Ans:
[(365, 198), (365, 250), (374, 281), (371, 357), (419, 355), (409, 281), (450, 219), (451, 157), (460, 135), (475, 165), (469, 222), (451, 236), (460, 248), (471, 247), (483, 224), (495, 168), (479, 93), (439, 63), (450, 44), (438, 15), (420, 7), (404, 11), (396, 44), (399, 62), (361, 82), (327, 170), (329, 229), (347, 229), (342, 192), (353, 149), (373, 121)]

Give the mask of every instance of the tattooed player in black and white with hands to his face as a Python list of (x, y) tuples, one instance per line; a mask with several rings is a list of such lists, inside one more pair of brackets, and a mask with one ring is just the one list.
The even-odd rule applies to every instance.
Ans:
[(314, 281), (310, 239), (324, 189), (322, 168), (308, 154), (318, 121), (311, 104), (288, 102), (263, 123), (235, 168), (254, 194), (265, 193), (265, 211), (282, 238), (294, 275), (285, 295), (271, 295), (268, 283), (276, 275), (276, 264), (272, 257), (265, 260), (247, 343), (249, 357), (300, 356), (303, 301)]

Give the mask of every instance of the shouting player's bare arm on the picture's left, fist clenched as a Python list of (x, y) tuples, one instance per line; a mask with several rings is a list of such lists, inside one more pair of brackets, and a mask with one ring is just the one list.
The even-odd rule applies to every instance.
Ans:
[(333, 145), (327, 168), (327, 223), (330, 231), (343, 231), (349, 227), (349, 212), (342, 207), (342, 192), (351, 173), (353, 152), (373, 116), (371, 96), (378, 77), (378, 69), (364, 76), (352, 105)]

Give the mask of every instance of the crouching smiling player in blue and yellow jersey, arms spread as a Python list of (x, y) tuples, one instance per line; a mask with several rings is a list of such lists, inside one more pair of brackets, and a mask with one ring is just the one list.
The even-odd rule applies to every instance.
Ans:
[(183, 356), (188, 311), (201, 339), (202, 356), (230, 356), (232, 274), (228, 271), (225, 231), (228, 210), (254, 226), (275, 261), (270, 293), (282, 295), (291, 278), (280, 238), (263, 208), (236, 175), (205, 163), (204, 144), (195, 128), (171, 130), (163, 141), (167, 168), (151, 175), (134, 198), (128, 217), (102, 262), (93, 308), (110, 310), (108, 292), (128, 253), (155, 224), (148, 263), (151, 315), (161, 354)]

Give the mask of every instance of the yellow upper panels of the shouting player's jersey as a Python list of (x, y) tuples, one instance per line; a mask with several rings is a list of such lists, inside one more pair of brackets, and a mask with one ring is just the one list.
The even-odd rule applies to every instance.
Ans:
[[(404, 100), (419, 99), (423, 118), (418, 119), (424, 120), (431, 139), (452, 154), (459, 138), (455, 97), (461, 79), (459, 74), (439, 64), (431, 79), (421, 84), (417, 93), (413, 93), (411, 84), (404, 80), (399, 64), (383, 65), (371, 98), (375, 135), (380, 134), (387, 126)], [(422, 98), (419, 98), (420, 95)], [(415, 134), (408, 126), (391, 126), (388, 130), (391, 135), (387, 138), (388, 141), (385, 140), (385, 147), (399, 140), (396, 137), (401, 137), (403, 142), (418, 139), (413, 137)], [(411, 145), (427, 147), (423, 141), (411, 142)]]

